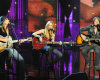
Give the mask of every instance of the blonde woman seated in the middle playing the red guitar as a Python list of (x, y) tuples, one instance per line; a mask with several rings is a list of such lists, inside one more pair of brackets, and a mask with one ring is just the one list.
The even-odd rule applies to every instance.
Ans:
[[(54, 42), (55, 34), (50, 29), (54, 30), (54, 23), (52, 21), (48, 21), (46, 23), (45, 29), (41, 29), (37, 32), (34, 32), (32, 35), (34, 37), (38, 37), (40, 42), (42, 42), (43, 38), (48, 38), (50, 42)], [(40, 36), (38, 34), (42, 34), (42, 36)], [(59, 45), (61, 45), (61, 44), (62, 44), (62, 42), (60, 41)], [(53, 59), (53, 61), (50, 60), (50, 56), (51, 56), (51, 53), (49, 52), (50, 49), (52, 49), (53, 53), (57, 55), (57, 57), (55, 59)], [(53, 64), (55, 64), (63, 56), (60, 51), (58, 51), (57, 49), (54, 49), (50, 46), (44, 46), (41, 48), (41, 50), (48, 51), (48, 61), (49, 61), (48, 63), (50, 63), (50, 64), (52, 64), (52, 62), (53, 62)]]

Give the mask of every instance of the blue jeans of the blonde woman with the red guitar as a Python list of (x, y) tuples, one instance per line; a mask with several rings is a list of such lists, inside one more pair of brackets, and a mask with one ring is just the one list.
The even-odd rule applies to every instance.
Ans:
[(53, 59), (53, 63), (54, 64), (57, 63), (63, 57), (63, 55), (62, 55), (62, 53), (60, 51), (58, 51), (57, 49), (54, 49), (54, 48), (52, 48), (50, 46), (44, 46), (44, 47), (41, 48), (41, 50), (48, 52), (47, 54), (48, 54), (48, 60), (49, 61), (51, 61), (50, 58), (51, 58), (52, 52), (55, 55), (57, 55), (57, 57), (55, 59)]

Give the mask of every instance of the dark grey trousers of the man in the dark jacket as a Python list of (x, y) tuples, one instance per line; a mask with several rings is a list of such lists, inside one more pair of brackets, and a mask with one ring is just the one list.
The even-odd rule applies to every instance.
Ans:
[(85, 58), (86, 63), (89, 63), (88, 51), (94, 49), (95, 51), (95, 66), (99, 65), (99, 57), (100, 57), (100, 46), (92, 43), (90, 46), (85, 45), (82, 49), (83, 57)]

